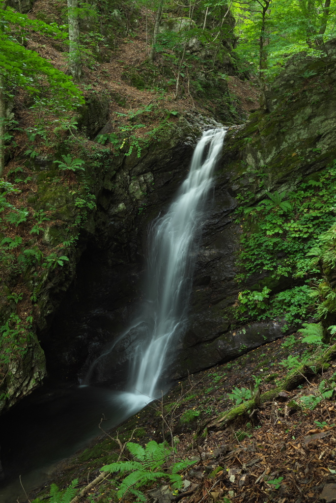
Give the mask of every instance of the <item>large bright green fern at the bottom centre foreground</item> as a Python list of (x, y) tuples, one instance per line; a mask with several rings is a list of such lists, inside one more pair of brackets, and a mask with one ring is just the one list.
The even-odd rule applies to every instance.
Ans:
[(181, 489), (183, 482), (179, 471), (186, 469), (193, 462), (179, 461), (169, 467), (169, 472), (163, 471), (175, 450), (166, 443), (157, 444), (154, 440), (148, 442), (145, 448), (133, 442), (127, 443), (127, 448), (134, 461), (120, 461), (102, 467), (102, 471), (125, 474), (117, 492), (118, 498), (123, 498), (127, 493), (134, 494), (138, 501), (146, 501), (140, 490), (141, 487), (154, 482), (159, 478), (167, 478), (173, 489)]

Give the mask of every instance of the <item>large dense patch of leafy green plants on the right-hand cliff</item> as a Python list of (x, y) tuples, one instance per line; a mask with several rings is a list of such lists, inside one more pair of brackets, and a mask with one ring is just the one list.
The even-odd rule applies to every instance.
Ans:
[[(260, 176), (262, 178), (262, 174)], [(264, 271), (269, 271), (274, 278), (293, 274), (303, 277), (307, 268), (311, 269), (306, 254), (312, 253), (315, 241), (333, 224), (335, 191), (336, 165), (332, 165), (321, 172), (316, 181), (308, 180), (286, 194), (273, 193), (273, 199), (247, 208), (237, 260), (242, 273), (237, 280)], [(284, 197), (288, 197), (288, 201), (284, 201)], [(288, 205), (281, 208), (284, 202)], [(243, 213), (242, 208), (237, 213)], [(254, 231), (251, 233), (250, 229)], [(327, 236), (324, 239), (328, 241)], [(322, 245), (322, 241), (319, 243)], [(313, 249), (315, 254), (320, 248)], [(325, 257), (326, 261), (332, 262), (331, 255)]]

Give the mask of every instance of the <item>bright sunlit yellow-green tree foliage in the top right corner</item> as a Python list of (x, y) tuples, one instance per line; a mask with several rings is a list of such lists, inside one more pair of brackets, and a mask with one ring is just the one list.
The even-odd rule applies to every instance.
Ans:
[[(234, 2), (231, 11), (236, 19), (236, 33), (240, 36), (238, 55), (250, 62), (250, 69), (261, 71), (268, 80), (279, 74), (293, 54), (305, 51), (315, 58), (320, 56), (323, 42), (335, 35), (335, 13), (332, 9), (324, 11), (324, 2), (320, 0), (272, 0), (262, 29), (265, 5), (265, 0)], [(260, 40), (264, 42), (262, 51)], [(307, 72), (302, 78), (313, 75)]]

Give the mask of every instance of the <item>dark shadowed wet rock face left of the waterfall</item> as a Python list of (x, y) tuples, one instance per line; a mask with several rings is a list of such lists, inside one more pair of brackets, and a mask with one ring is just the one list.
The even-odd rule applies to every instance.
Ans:
[[(40, 330), (51, 375), (85, 376), (90, 363), (109, 350), (136, 317), (143, 295), (147, 227), (169, 206), (186, 178), (200, 125), (192, 117), (188, 122), (180, 120), (160, 143), (139, 159), (124, 157), (112, 180), (105, 179), (95, 228), (76, 278), (56, 315), (52, 313), (47, 327)], [(96, 380), (105, 381), (106, 374), (111, 374), (107, 367), (115, 366), (115, 380), (121, 379), (134, 349), (131, 342), (130, 333), (109, 361), (95, 370)]]

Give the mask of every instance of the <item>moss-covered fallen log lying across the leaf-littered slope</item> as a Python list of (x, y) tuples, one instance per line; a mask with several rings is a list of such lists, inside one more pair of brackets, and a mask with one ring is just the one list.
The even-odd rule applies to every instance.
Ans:
[[(233, 407), (231, 410), (224, 412), (217, 417), (214, 418), (212, 423), (208, 424), (208, 428), (222, 428), (231, 421), (235, 420), (236, 417), (240, 415), (246, 414), (254, 407), (258, 406), (259, 403), (264, 403), (266, 401), (272, 401), (276, 398), (280, 391), (290, 391), (291, 389), (296, 388), (299, 384), (301, 384), (307, 375), (318, 374), (325, 368), (326, 364), (335, 358), (336, 356), (336, 344), (333, 344), (329, 348), (325, 350), (322, 355), (319, 355), (316, 361), (309, 361), (309, 365), (305, 363), (300, 367), (296, 368), (292, 371), (283, 381), (274, 389), (270, 389), (263, 393), (259, 400), (257, 400), (258, 393), (255, 397), (247, 400), (246, 402), (241, 403), (237, 407)], [(258, 401), (258, 403), (257, 403)]]

